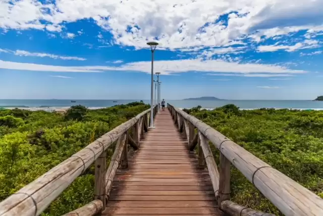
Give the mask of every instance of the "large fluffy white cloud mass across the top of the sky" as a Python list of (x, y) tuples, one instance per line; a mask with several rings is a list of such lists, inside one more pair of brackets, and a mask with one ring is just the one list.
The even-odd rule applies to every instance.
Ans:
[(5, 0), (0, 28), (62, 31), (63, 23), (92, 18), (116, 44), (141, 48), (156, 37), (162, 48), (221, 47), (299, 30), (315, 37), (322, 31), (321, 8), (318, 0)]

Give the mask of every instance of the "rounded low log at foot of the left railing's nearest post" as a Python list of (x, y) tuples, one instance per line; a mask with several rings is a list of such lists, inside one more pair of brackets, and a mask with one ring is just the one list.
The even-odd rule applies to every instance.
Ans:
[(100, 213), (102, 210), (102, 201), (95, 199), (92, 202), (62, 216), (93, 216)]

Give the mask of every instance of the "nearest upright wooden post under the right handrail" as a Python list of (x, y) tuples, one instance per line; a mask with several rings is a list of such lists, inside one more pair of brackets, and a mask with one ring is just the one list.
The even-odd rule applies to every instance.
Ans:
[(231, 162), (220, 152), (220, 184), (218, 204), (224, 200), (230, 200), (230, 166)]

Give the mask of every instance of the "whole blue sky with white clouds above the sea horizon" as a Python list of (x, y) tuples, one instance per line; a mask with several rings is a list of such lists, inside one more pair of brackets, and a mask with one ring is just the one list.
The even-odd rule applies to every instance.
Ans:
[[(0, 99), (315, 99), (322, 0), (0, 0)], [(154, 79), (156, 77), (154, 76)]]

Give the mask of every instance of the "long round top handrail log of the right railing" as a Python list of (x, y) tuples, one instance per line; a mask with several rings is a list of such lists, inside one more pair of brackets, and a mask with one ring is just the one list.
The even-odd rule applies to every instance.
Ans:
[(286, 216), (323, 215), (323, 199), (229, 140), (223, 134), (168, 104), (191, 122), (254, 186)]

